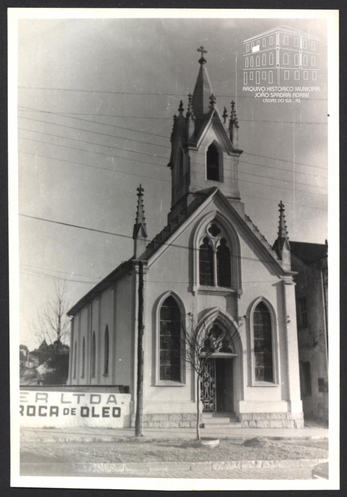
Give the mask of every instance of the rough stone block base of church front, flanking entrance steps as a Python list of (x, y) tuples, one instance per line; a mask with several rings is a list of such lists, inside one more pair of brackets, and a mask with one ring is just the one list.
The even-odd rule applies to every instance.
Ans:
[[(202, 419), (204, 413), (202, 414)], [(303, 428), (303, 413), (240, 413), (237, 415), (242, 428)], [(132, 427), (135, 414), (132, 414)], [(195, 428), (197, 414), (143, 414), (143, 428)], [(232, 423), (230, 423), (232, 426)]]

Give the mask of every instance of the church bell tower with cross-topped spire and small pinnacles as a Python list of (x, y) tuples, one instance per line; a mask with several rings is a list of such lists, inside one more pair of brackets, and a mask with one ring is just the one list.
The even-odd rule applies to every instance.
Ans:
[(235, 103), (230, 117), (224, 107), (220, 117), (216, 97), (206, 68), (208, 53), (198, 48), (199, 72), (193, 94), (188, 95), (187, 112), (180, 101), (174, 115), (171, 133), (171, 211), (170, 221), (180, 213), (187, 214), (197, 198), (219, 188), (235, 208), (243, 210), (238, 189), (238, 120)]

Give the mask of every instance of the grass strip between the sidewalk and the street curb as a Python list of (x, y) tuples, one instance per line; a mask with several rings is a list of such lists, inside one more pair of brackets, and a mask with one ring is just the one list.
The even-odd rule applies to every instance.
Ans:
[(197, 462), (328, 457), (327, 440), (270, 440), (247, 446), (243, 438), (224, 438), (214, 448), (195, 440), (116, 439), (113, 442), (33, 442), (20, 445), (20, 461), (65, 463)]

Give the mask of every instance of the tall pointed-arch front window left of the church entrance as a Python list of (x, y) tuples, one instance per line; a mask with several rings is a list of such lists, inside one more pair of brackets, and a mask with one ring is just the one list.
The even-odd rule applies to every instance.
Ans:
[(181, 313), (171, 296), (161, 305), (159, 327), (159, 380), (181, 381)]

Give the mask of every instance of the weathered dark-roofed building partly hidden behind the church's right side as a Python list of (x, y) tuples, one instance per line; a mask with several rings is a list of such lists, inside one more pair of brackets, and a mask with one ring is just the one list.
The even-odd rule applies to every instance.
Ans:
[(328, 246), (290, 242), (305, 415), (328, 419)]

